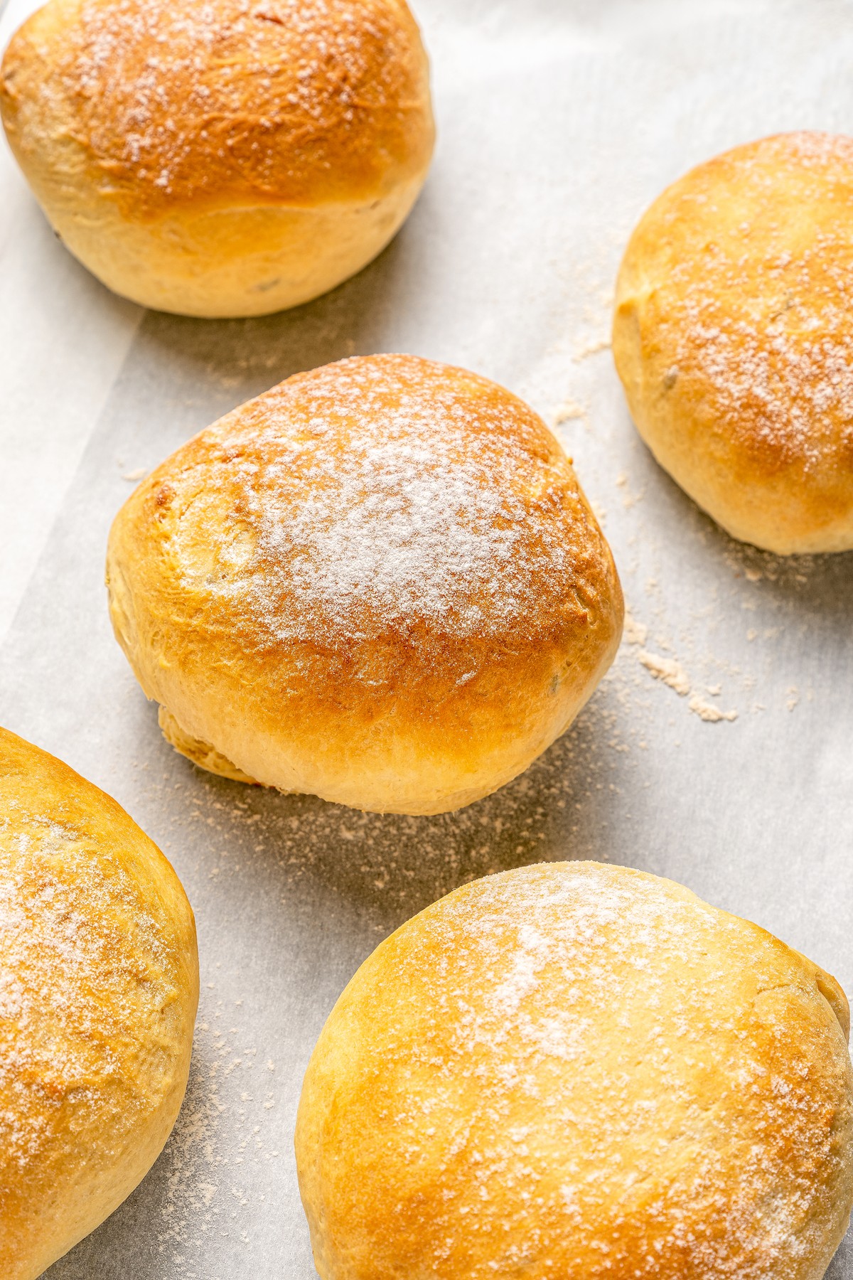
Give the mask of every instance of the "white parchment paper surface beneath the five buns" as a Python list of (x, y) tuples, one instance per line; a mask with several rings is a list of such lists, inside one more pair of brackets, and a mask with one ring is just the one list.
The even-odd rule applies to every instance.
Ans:
[[(33, 8), (13, 5), (6, 36)], [(14, 613), (0, 721), (161, 845), (196, 909), (202, 965), (175, 1133), (51, 1280), (315, 1276), (292, 1151), (313, 1042), (381, 938), (487, 872), (596, 858), (669, 876), (853, 991), (853, 556), (780, 561), (728, 539), (639, 443), (606, 346), (622, 248), (668, 182), (765, 133), (853, 132), (853, 6), (417, 12), (439, 119), (427, 188), (372, 266), (297, 311), (206, 323), (113, 298), (0, 156), (0, 621)], [(574, 728), (513, 785), (437, 818), (198, 772), (161, 739), (106, 614), (125, 476), (289, 374), (375, 351), (468, 366), (551, 421), (630, 607), (619, 660)], [(702, 718), (708, 707), (737, 718)], [(829, 1275), (853, 1280), (849, 1244)]]

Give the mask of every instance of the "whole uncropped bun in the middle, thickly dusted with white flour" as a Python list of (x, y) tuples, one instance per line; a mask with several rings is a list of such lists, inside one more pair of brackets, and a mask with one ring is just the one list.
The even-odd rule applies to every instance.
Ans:
[(298, 374), (119, 512), (113, 625), (197, 764), (395, 813), (520, 773), (610, 662), (610, 549), (545, 424), (412, 356)]

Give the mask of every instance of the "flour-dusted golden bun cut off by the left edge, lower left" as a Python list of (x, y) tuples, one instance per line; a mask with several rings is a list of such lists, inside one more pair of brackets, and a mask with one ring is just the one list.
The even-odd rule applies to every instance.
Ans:
[(35, 1280), (146, 1175), (187, 1087), (193, 914), (109, 796), (0, 730), (0, 1275)]

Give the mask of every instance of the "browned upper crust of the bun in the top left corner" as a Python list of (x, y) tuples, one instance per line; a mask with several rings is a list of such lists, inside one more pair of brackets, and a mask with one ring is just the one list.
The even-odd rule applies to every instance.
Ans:
[(59, 129), (134, 220), (377, 198), (434, 136), (403, 0), (50, 0), (9, 45), (0, 108), (24, 168)]

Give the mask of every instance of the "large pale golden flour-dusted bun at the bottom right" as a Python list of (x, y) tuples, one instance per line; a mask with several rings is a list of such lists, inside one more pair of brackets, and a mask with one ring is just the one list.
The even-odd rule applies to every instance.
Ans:
[(853, 1202), (838, 983), (670, 881), (505, 872), (398, 929), (308, 1065), (322, 1280), (820, 1280)]

